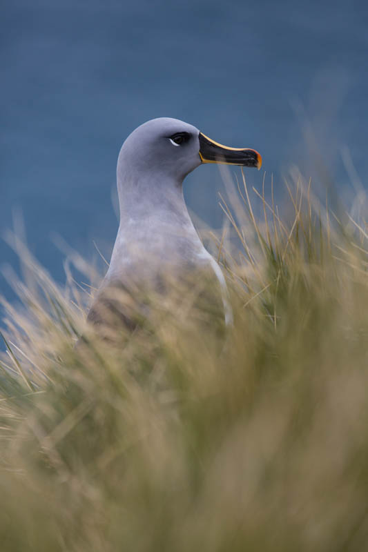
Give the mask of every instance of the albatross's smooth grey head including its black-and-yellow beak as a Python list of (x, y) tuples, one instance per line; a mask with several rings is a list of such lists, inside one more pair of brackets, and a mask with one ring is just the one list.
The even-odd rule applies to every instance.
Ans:
[(195, 126), (161, 117), (147, 121), (128, 136), (120, 150), (117, 180), (133, 186), (146, 178), (181, 184), (202, 163), (260, 168), (262, 159), (255, 150), (222, 146)]

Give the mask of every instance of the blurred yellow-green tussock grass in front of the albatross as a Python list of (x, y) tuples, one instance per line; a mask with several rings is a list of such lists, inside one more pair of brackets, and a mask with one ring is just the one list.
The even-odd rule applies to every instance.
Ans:
[(195, 282), (120, 348), (74, 348), (86, 290), (68, 266), (60, 290), (12, 237), (24, 282), (9, 275), (23, 308), (5, 304), (2, 551), (366, 549), (365, 224), (300, 181), (292, 216), (263, 196), (256, 221), (249, 193), (223, 203), (237, 242), (216, 238), (224, 337), (193, 316)]

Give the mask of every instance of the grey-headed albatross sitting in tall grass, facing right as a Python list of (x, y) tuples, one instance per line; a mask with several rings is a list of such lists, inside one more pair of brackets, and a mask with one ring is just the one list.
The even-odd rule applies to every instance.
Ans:
[(260, 169), (262, 158), (256, 150), (223, 146), (195, 126), (168, 117), (147, 121), (126, 138), (117, 161), (119, 230), (89, 322), (101, 326), (108, 311), (116, 314), (112, 290), (149, 290), (159, 287), (165, 275), (179, 278), (196, 270), (211, 271), (220, 282), (224, 317), (231, 322), (224, 275), (197, 235), (183, 195), (186, 175), (207, 163)]

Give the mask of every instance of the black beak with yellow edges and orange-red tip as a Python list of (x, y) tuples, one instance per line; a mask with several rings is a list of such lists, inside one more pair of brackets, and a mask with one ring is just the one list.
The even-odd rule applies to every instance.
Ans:
[(211, 140), (200, 132), (200, 158), (202, 163), (222, 163), (226, 165), (240, 165), (242, 167), (262, 166), (262, 157), (258, 151), (250, 148), (229, 148)]

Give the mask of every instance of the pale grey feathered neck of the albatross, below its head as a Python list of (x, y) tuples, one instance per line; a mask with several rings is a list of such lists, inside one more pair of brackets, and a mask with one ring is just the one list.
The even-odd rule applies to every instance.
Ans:
[(120, 226), (108, 279), (126, 270), (149, 273), (182, 259), (192, 262), (203, 250), (184, 201), (182, 181), (173, 179), (120, 180)]

